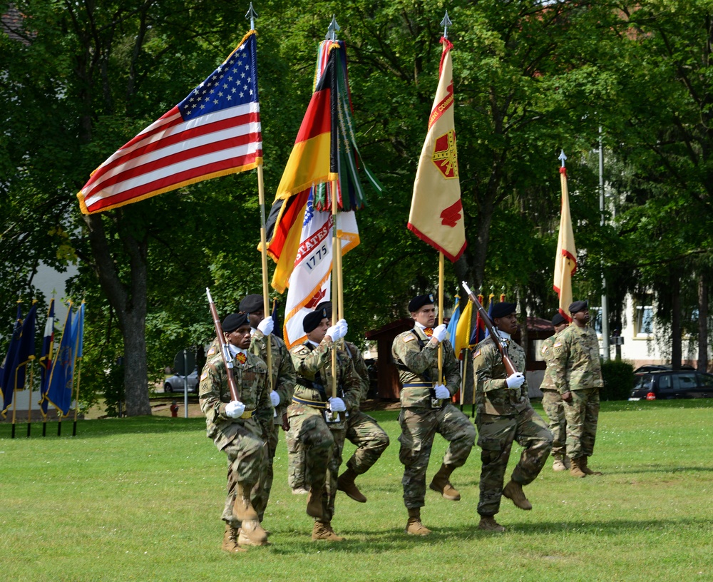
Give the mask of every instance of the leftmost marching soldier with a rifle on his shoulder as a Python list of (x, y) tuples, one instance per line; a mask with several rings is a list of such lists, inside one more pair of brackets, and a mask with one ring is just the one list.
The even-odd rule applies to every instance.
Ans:
[(228, 485), (225, 509), (225, 551), (244, 551), (242, 546), (267, 545), (260, 525), (264, 511), (267, 445), (262, 427), (272, 422), (273, 408), (267, 394), (267, 367), (250, 347), (247, 315), (234, 313), (222, 322), (239, 400), (232, 400), (220, 349), (209, 349), (200, 375), (200, 409), (205, 414), (207, 436), (227, 455)]

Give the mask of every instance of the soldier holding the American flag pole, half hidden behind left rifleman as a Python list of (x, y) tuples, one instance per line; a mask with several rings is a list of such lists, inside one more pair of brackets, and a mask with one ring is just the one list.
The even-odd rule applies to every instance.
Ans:
[[(247, 295), (240, 302), (238, 307), (240, 312), (247, 313), (250, 320), (252, 340), (250, 342), (250, 352), (267, 362), (267, 337), (270, 338), (270, 372), (272, 375), (272, 392), (270, 401), (275, 407), (275, 416), (265, 427), (267, 433), (267, 477), (265, 479), (265, 503), (270, 499), (272, 491), (272, 462), (277, 451), (277, 441), (279, 440), (279, 429), (287, 430), (287, 404), (292, 399), (294, 382), (297, 375), (292, 366), (292, 357), (287, 351), (287, 346), (282, 339), (272, 335), (272, 317), (265, 317), (265, 306), (262, 295)], [(260, 514), (262, 521), (263, 514)]]

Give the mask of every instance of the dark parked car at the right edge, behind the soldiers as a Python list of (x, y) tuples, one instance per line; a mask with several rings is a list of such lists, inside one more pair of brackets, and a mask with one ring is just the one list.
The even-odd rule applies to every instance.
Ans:
[(713, 398), (713, 374), (694, 369), (652, 370), (635, 374), (630, 400)]

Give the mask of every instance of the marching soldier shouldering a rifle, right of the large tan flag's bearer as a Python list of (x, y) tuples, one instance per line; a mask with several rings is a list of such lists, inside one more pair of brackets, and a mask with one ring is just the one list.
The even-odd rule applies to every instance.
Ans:
[[(493, 307), (496, 332), (507, 344), (515, 369), (508, 376), (493, 337), (486, 337), (473, 352), (473, 374), (476, 376), (476, 424), (481, 447), (481, 499), (479, 529), (505, 531), (495, 515), (504, 495), (520, 509), (532, 509), (523, 485), (532, 483), (540, 474), (552, 448), (552, 433), (530, 405), (525, 380), (525, 350), (513, 342), (518, 329), (515, 304), (501, 302)], [(510, 481), (503, 489), (505, 471), (513, 441), (523, 447)]]

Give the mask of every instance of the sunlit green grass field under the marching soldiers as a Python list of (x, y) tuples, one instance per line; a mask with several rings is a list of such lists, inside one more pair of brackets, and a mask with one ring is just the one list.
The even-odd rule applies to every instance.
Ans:
[[(539, 409), (538, 409), (539, 410)], [(540, 410), (541, 412), (541, 410)], [(0, 565), (7, 581), (709, 581), (713, 579), (713, 399), (605, 402), (590, 466), (551, 463), (503, 499), (506, 533), (476, 529), (479, 450), (453, 474), (462, 501), (426, 495), (427, 538), (406, 536), (397, 412), (373, 413), (391, 446), (337, 497), (343, 543), (310, 541), (304, 496), (287, 488), (284, 438), (265, 527), (272, 546), (220, 550), (225, 456), (200, 418), (80, 422), (78, 436), (0, 425)], [(71, 422), (63, 434), (71, 434)], [(444, 441), (436, 437), (429, 479)], [(352, 454), (347, 444), (344, 459)], [(518, 449), (513, 449), (511, 465)]]

